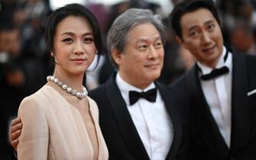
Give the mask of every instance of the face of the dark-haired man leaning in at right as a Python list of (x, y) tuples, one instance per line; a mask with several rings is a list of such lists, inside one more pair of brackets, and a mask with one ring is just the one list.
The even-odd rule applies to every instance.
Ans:
[(206, 66), (215, 68), (223, 50), (222, 32), (212, 13), (200, 8), (180, 18), (180, 45)]

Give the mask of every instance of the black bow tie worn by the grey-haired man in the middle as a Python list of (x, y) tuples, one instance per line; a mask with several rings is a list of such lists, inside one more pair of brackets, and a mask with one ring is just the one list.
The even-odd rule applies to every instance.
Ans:
[(146, 92), (138, 92), (138, 91), (129, 91), (129, 100), (130, 105), (136, 103), (139, 98), (145, 98), (147, 101), (154, 102), (157, 98), (157, 88), (153, 88), (151, 90), (148, 90)]

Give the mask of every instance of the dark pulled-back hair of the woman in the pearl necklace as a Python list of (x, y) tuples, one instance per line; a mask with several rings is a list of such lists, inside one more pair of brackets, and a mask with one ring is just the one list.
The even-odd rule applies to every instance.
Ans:
[[(89, 24), (91, 24), (92, 26), (92, 32), (93, 32), (92, 34), (93, 34), (94, 43), (97, 49), (96, 54), (98, 54), (98, 56), (102, 55), (104, 53), (104, 50), (102, 45), (102, 37), (101, 37), (101, 31), (99, 28), (99, 23), (96, 17), (92, 14), (91, 11), (89, 11), (88, 8), (79, 4), (65, 5), (64, 7), (58, 8), (57, 10), (53, 11), (52, 14), (50, 14), (50, 17), (47, 21), (46, 34), (45, 34), (45, 41), (46, 41), (46, 45), (47, 45), (47, 49), (49, 50), (49, 53), (53, 52), (54, 36), (56, 34), (57, 24), (59, 24), (60, 21), (62, 21), (64, 18), (67, 18), (71, 15), (80, 16), (80, 17), (86, 18), (86, 20), (89, 21)], [(98, 62), (99, 62), (99, 58), (98, 58)]]

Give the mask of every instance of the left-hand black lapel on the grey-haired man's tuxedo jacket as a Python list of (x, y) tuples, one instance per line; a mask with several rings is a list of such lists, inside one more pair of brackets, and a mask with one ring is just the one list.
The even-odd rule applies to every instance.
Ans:
[(134, 126), (122, 94), (115, 83), (115, 76), (107, 82), (107, 94), (122, 137), (135, 159), (149, 160), (147, 151)]

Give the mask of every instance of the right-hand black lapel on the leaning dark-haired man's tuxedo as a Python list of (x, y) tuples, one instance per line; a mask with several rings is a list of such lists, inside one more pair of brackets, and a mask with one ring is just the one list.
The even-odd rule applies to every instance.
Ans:
[(245, 146), (250, 136), (248, 75), (245, 56), (233, 52), (231, 150)]

